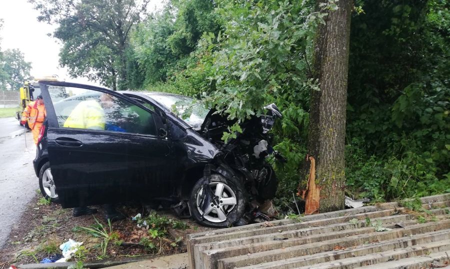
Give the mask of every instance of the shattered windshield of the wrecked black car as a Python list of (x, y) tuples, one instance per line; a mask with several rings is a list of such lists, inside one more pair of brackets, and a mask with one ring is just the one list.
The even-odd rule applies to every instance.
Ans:
[(173, 114), (184, 120), (193, 129), (198, 130), (209, 112), (209, 109), (198, 100), (181, 95), (165, 95), (146, 93), (155, 101), (169, 109)]

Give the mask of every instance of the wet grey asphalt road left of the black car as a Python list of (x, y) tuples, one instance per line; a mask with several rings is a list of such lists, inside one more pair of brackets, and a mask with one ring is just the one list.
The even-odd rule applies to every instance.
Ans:
[(0, 248), (2, 248), (11, 225), (20, 218), (39, 184), (32, 163), (36, 147), (31, 132), (28, 131), (24, 135), (23, 127), (19, 126), (15, 118), (0, 118), (0, 126)]

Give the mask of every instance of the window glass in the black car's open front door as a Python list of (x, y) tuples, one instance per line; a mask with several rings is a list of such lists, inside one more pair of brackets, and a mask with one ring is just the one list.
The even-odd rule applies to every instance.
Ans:
[(48, 86), (59, 127), (156, 135), (154, 115), (95, 90)]

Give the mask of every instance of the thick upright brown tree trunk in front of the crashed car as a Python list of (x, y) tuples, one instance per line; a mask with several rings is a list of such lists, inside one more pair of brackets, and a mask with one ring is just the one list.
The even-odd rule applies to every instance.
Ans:
[[(317, 0), (317, 6), (326, 0)], [(337, 1), (314, 40), (313, 75), (320, 90), (311, 92), (308, 153), (316, 160), (319, 212), (344, 208), (345, 109), (352, 0)]]

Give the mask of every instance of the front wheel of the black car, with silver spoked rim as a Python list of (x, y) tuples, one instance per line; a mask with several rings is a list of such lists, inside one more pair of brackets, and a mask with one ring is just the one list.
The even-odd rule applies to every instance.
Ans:
[[(209, 213), (203, 217), (203, 212), (200, 209), (200, 195), (203, 190), (203, 178), (198, 180), (192, 188), (189, 197), (189, 208), (192, 218), (199, 224), (213, 227), (213, 228), (226, 228), (232, 226), (236, 221), (238, 221), (245, 212), (246, 207), (246, 192), (244, 186), (234, 179), (225, 179), (223, 176), (218, 174), (212, 174), (209, 183), (214, 194), (221, 192), (219, 200), (221, 203), (217, 209), (215, 206), (206, 209)], [(219, 189), (217, 191), (217, 189)], [(220, 189), (222, 191), (220, 191)], [(235, 199), (235, 204), (232, 205), (232, 201)], [(217, 211), (217, 210), (220, 210)], [(220, 214), (219, 214), (220, 213)], [(223, 214), (222, 214), (223, 213)], [(225, 220), (223, 220), (223, 218)]]

